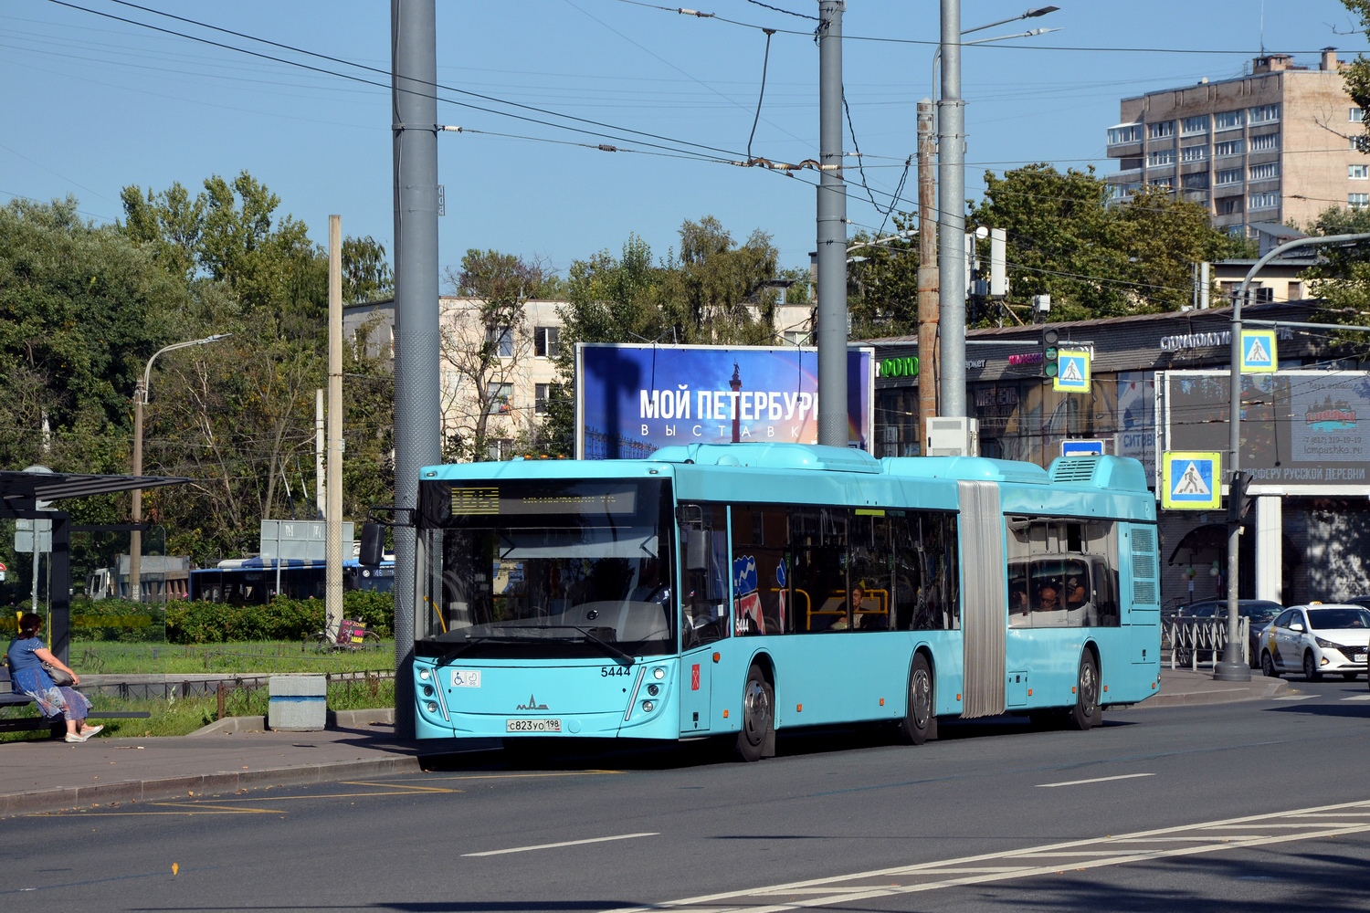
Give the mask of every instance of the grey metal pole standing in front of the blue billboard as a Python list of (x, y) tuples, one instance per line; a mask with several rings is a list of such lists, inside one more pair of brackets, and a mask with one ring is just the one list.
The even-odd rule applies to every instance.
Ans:
[(845, 448), (847, 185), (843, 181), (843, 0), (818, 3), (818, 442)]

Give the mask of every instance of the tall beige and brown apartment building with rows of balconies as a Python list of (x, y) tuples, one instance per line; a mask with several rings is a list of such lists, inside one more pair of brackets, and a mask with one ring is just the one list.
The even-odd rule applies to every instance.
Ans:
[(1370, 205), (1362, 110), (1347, 94), (1334, 48), (1318, 68), (1285, 53), (1255, 57), (1249, 75), (1123, 99), (1108, 129), (1110, 197), (1170, 188), (1212, 224), (1252, 235), (1258, 223), (1299, 226), (1329, 207)]

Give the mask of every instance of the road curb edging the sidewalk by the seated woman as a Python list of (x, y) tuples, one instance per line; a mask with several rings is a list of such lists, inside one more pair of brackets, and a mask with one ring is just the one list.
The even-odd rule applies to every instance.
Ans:
[(370, 761), (341, 761), (337, 764), (308, 764), (270, 771), (248, 771), (245, 773), (206, 773), (199, 776), (170, 776), (155, 780), (101, 783), (99, 786), (55, 787), (51, 790), (0, 795), (0, 817), (59, 812), (114, 802), (185, 798), (188, 794), (233, 793), (266, 786), (301, 786), (345, 777), (418, 772), (421, 772), (421, 768), (416, 757), (396, 756)]

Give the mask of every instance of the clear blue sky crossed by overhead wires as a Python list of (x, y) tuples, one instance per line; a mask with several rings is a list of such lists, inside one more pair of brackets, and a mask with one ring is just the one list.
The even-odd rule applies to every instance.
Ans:
[[(812, 0), (689, 0), (701, 19), (627, 0), (438, 0), (438, 119), (482, 133), (438, 138), (447, 215), (441, 263), (467, 248), (541, 257), (566, 272), (575, 259), (618, 253), (630, 233), (666, 256), (684, 219), (717, 216), (737, 240), (769, 233), (784, 266), (814, 249), (812, 174), (782, 177), (700, 160), (745, 155), (771, 38), (766, 96), (752, 153), (799, 162), (818, 152), (818, 51)], [(121, 215), (119, 190), (136, 183), (192, 190), (211, 174), (248, 170), (281, 197), (281, 212), (308, 223), (327, 215), (345, 234), (390, 246), (389, 3), (385, 0), (137, 0), (138, 5), (252, 37), (340, 57), (308, 57), (215, 33), (114, 0), (0, 3), (0, 201), (74, 194), (97, 222)], [(660, 4), (669, 5), (669, 4)], [(964, 0), (963, 27), (1006, 19), (1037, 0)], [(963, 52), (967, 193), (986, 168), (1029, 162), (1095, 164), (1118, 120), (1118, 100), (1200, 78), (1236, 77), (1262, 47), (1317, 66), (1317, 49), (1343, 59), (1367, 48), (1338, 0), (1058, 0), (1048, 16), (977, 33), (1059, 27), (1034, 38)], [(84, 7), (78, 10), (73, 7)], [(347, 73), (304, 68), (116, 22), (110, 14), (259, 53)], [(732, 22), (725, 22), (729, 19)], [(741, 23), (741, 25), (737, 25)], [(851, 0), (844, 16), (844, 82), (866, 181), (888, 207), (914, 151), (915, 104), (932, 92), (937, 0)], [(792, 34), (799, 33), (799, 34)], [(1338, 34), (1340, 33), (1340, 34)], [(858, 40), (864, 38), (864, 40)], [(871, 40), (878, 38), (878, 40)], [(1121, 51), (1143, 49), (1143, 51)], [(489, 96), (495, 101), (463, 96)], [(563, 130), (463, 107), (569, 123)], [(633, 142), (656, 134), (666, 149)], [(618, 138), (592, 136), (590, 131)], [(493, 136), (508, 134), (508, 136)], [(643, 140), (643, 137), (638, 137)], [(641, 152), (600, 152), (612, 142)], [(697, 145), (690, 145), (697, 144)], [(852, 149), (848, 136), (845, 148)], [(848, 170), (851, 233), (884, 215)], [(912, 208), (908, 175), (900, 209)]]

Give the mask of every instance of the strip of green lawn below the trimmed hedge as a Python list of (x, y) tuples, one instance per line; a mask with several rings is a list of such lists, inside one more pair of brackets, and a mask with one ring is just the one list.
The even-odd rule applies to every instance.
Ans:
[(70, 665), (84, 675), (377, 672), (395, 669), (395, 642), (381, 641), (378, 649), (319, 653), (312, 645), (301, 650), (299, 641), (199, 645), (73, 641)]

